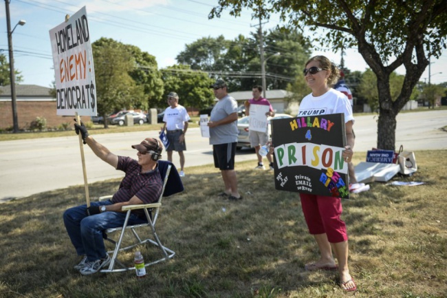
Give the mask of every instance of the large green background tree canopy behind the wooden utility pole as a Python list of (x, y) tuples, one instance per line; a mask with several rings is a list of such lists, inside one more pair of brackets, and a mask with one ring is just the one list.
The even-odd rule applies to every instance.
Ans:
[[(301, 72), (310, 45), (295, 30), (270, 30), (262, 34), (267, 89), (286, 89)], [(246, 91), (262, 84), (259, 55), (259, 32), (255, 32), (250, 37), (239, 35), (232, 41), (223, 36), (199, 39), (186, 45), (177, 61), (193, 70), (208, 72), (213, 78), (223, 78), (230, 91)]]

